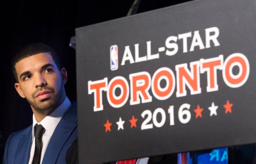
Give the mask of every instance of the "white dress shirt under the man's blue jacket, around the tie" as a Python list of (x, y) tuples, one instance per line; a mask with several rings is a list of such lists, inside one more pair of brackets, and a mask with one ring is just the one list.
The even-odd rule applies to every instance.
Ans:
[(63, 103), (58, 106), (58, 108), (56, 108), (54, 111), (52, 111), (48, 116), (46, 116), (40, 123), (37, 122), (37, 120), (35, 119), (35, 115), (33, 114), (33, 129), (32, 129), (32, 146), (30, 149), (30, 159), (28, 164), (32, 163), (33, 160), (33, 156), (35, 153), (35, 135), (34, 135), (34, 126), (35, 124), (41, 124), (45, 129), (45, 133), (43, 134), (42, 137), (42, 151), (41, 151), (41, 162), (43, 160), (43, 156), (46, 153), (46, 148), (48, 146), (48, 143), (52, 137), (52, 134), (54, 132), (54, 129), (56, 128), (56, 126), (58, 125), (59, 121), (61, 120), (61, 118), (63, 117), (64, 113), (67, 111), (67, 109), (71, 106), (71, 102), (69, 101), (69, 99), (66, 97), (65, 100), (63, 101)]

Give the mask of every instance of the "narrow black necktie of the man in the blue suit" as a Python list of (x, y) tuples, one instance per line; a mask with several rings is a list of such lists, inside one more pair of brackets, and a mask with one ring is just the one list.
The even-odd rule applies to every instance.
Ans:
[(42, 136), (46, 129), (42, 125), (36, 124), (35, 127), (35, 153), (32, 164), (40, 164), (41, 151), (42, 151)]

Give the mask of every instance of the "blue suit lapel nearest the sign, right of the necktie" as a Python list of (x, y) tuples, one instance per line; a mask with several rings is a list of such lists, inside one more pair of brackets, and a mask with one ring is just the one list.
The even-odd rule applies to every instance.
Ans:
[(72, 104), (72, 106), (65, 112), (61, 121), (56, 126), (48, 147), (46, 149), (46, 153), (43, 157), (43, 162), (45, 164), (55, 163), (58, 159), (59, 153), (65, 145), (65, 142), (69, 138), (70, 134), (77, 126), (77, 112), (76, 112), (76, 103)]

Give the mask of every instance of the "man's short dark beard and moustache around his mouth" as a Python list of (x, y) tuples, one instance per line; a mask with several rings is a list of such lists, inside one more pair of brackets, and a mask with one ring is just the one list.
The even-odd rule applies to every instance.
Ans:
[[(32, 95), (32, 97), (35, 99), (35, 95), (39, 91), (43, 90), (49, 90), (54, 93), (54, 88), (48, 87), (48, 86), (43, 86), (41, 88), (38, 88)], [(39, 102), (36, 101), (30, 101), (27, 99), (28, 103), (39, 113), (48, 115), (50, 114), (54, 109), (56, 109), (60, 104), (61, 104), (61, 98), (63, 96), (64, 92), (64, 86), (61, 85), (61, 88), (57, 92), (57, 94), (54, 97), (42, 99)]]

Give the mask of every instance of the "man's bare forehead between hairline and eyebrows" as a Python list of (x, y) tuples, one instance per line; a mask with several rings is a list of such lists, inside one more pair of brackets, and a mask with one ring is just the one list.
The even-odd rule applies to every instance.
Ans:
[(24, 71), (33, 71), (36, 69), (40, 69), (43, 65), (49, 63), (56, 67), (56, 64), (52, 60), (52, 56), (49, 53), (40, 53), (20, 60), (16, 63), (15, 69), (17, 71), (17, 74), (19, 75)]

